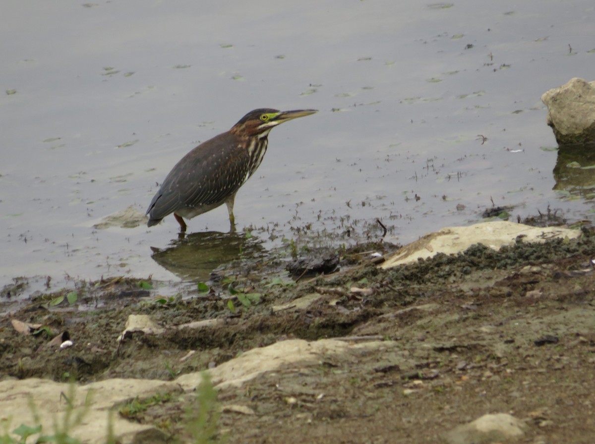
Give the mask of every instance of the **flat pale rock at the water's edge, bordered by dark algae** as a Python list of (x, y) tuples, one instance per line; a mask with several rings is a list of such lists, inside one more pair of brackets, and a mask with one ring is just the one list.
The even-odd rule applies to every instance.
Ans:
[(531, 243), (544, 242), (557, 237), (573, 239), (580, 235), (581, 232), (575, 229), (559, 226), (540, 228), (506, 221), (483, 222), (471, 226), (449, 226), (400, 248), (381, 264), (381, 267), (386, 269), (415, 263), (418, 259), (427, 259), (438, 253), (456, 254), (475, 244), (484, 244), (486, 247), (498, 250), (503, 245), (514, 244), (518, 236), (522, 236), (523, 242)]

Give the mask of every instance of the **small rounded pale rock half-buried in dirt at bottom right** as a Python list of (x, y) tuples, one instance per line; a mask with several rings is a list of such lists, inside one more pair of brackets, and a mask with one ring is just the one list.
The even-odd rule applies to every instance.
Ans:
[(471, 423), (444, 433), (448, 444), (513, 442), (524, 436), (527, 424), (506, 413), (483, 415)]

